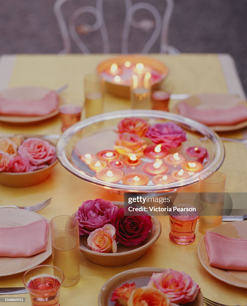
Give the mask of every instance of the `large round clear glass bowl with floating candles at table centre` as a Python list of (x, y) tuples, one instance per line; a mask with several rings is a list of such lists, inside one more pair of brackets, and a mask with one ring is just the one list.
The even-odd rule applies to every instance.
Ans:
[[(160, 159), (155, 159), (150, 158), (145, 154), (139, 156), (140, 152), (138, 150), (138, 154), (135, 154), (135, 152), (130, 154), (128, 150), (126, 150), (125, 154), (129, 154), (129, 156), (120, 154), (116, 159), (99, 159), (94, 160), (90, 164), (87, 164), (80, 158), (86, 154), (96, 155), (96, 153), (102, 151), (107, 151), (106, 153), (114, 151), (115, 141), (118, 138), (118, 124), (125, 118), (130, 119), (133, 117), (141, 118), (142, 120), (146, 121), (148, 125), (173, 121), (183, 128), (184, 132), (186, 133), (186, 141), (182, 142), (177, 149), (173, 148), (172, 151), (169, 151), (169, 154), (172, 152), (172, 164), (168, 165), (169, 162), (167, 163), (164, 161), (168, 155), (161, 157)], [(151, 140), (147, 139), (146, 137), (144, 138), (144, 136), (142, 136), (142, 138), (146, 140), (148, 145), (152, 144)], [(155, 148), (158, 144), (152, 145)], [(186, 157), (188, 158), (188, 162), (197, 160), (197, 158), (192, 158), (185, 155), (185, 149), (190, 146), (205, 148), (208, 152), (208, 157), (203, 162), (203, 169), (198, 172), (191, 171), (191, 169), (189, 169), (190, 171), (184, 170), (182, 169), (181, 164), (176, 164), (177, 162), (181, 163), (182, 160), (183, 162), (186, 162)], [(163, 146), (160, 148), (162, 147)], [(223, 144), (219, 136), (207, 126), (177, 114), (158, 110), (141, 109), (118, 110), (116, 112), (104, 113), (76, 123), (75, 125), (69, 127), (59, 138), (56, 153), (62, 165), (77, 177), (80, 177), (86, 182), (90, 182), (105, 188), (108, 191), (119, 192), (163, 192), (175, 188), (182, 188), (187, 185), (197, 183), (199, 181), (199, 176), (203, 171), (218, 170), (224, 160)], [(156, 153), (159, 153), (159, 150)], [(175, 153), (177, 154), (174, 156)], [(181, 158), (181, 155), (184, 157)], [(89, 155), (87, 156), (89, 157)], [(178, 158), (179, 161), (177, 161)], [(169, 176), (172, 176), (173, 171), (177, 171), (175, 173), (175, 177), (173, 177), (175, 181), (168, 183), (167, 180), (165, 184), (156, 184), (156, 182), (153, 181), (153, 178), (159, 174), (155, 173), (156, 175), (152, 175), (144, 172), (142, 168), (144, 164), (152, 163), (153, 165), (159, 160), (162, 160), (162, 164), (166, 164), (168, 166), (167, 172), (161, 173), (160, 175), (163, 177), (166, 175), (169, 178)], [(120, 165), (121, 171), (124, 173), (124, 176), (120, 181), (103, 181), (96, 177), (96, 172), (99, 170), (106, 167), (118, 169), (118, 165)], [(180, 170), (184, 171), (182, 175), (179, 175), (181, 172), (178, 174)], [(142, 182), (141, 177), (134, 175), (132, 176), (132, 182), (135, 185), (130, 185), (129, 182), (126, 183), (124, 177), (126, 178), (126, 176), (132, 172), (144, 175), (146, 180)], [(133, 180), (134, 177), (135, 180)], [(86, 182), (85, 184), (87, 184)], [(86, 186), (84, 187), (86, 188)]]

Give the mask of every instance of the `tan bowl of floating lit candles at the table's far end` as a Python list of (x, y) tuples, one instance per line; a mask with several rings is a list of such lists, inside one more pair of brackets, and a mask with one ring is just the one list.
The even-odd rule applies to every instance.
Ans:
[(105, 79), (110, 94), (129, 98), (130, 78), (133, 73), (150, 72), (152, 90), (156, 90), (168, 75), (168, 68), (154, 58), (128, 54), (101, 62), (97, 72)]

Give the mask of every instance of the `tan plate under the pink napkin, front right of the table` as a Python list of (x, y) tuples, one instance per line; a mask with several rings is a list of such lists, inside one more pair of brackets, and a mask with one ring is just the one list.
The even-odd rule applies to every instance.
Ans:
[[(216, 226), (213, 232), (231, 238), (247, 239), (247, 222), (235, 221)], [(247, 289), (247, 271), (224, 270), (209, 265), (208, 253), (205, 246), (204, 236), (198, 243), (197, 256), (204, 269), (215, 278), (235, 287)]]

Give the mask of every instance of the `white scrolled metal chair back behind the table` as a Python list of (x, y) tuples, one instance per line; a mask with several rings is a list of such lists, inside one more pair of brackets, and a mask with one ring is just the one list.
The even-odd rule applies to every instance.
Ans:
[[(64, 49), (60, 53), (70, 53), (71, 39), (81, 50), (82, 53), (90, 53), (85, 42), (82, 41), (83, 35), (88, 35), (89, 33), (99, 31), (102, 37), (102, 47), (103, 53), (110, 53), (110, 41), (107, 31), (106, 22), (103, 14), (103, 0), (96, 0), (95, 6), (82, 5), (75, 9), (66, 22), (65, 16), (62, 12), (62, 5), (64, 2), (71, 0), (56, 0), (54, 3), (54, 13), (58, 21), (58, 26), (61, 31)], [(83, 0), (82, 0), (83, 2)], [(152, 30), (152, 34), (148, 38), (147, 43), (145, 43), (141, 53), (148, 53), (156, 40), (160, 35), (160, 48), (161, 53), (177, 54), (179, 51), (172, 46), (168, 45), (168, 28), (170, 23), (170, 17), (172, 14), (174, 0), (164, 0), (166, 4), (166, 9), (163, 16), (160, 15), (158, 9), (150, 3), (147, 2), (137, 2), (132, 4), (131, 0), (124, 0), (125, 2), (125, 17), (124, 26), (122, 31), (122, 43), (121, 52), (129, 53), (128, 41), (131, 28), (141, 29), (144, 32)], [(134, 17), (138, 10), (147, 10), (152, 14), (153, 19), (142, 19), (137, 21)], [(95, 23), (90, 25), (83, 23), (77, 25), (76, 22), (78, 18), (82, 18), (85, 13), (90, 13), (95, 18)], [(137, 52), (137, 51), (135, 51)]]

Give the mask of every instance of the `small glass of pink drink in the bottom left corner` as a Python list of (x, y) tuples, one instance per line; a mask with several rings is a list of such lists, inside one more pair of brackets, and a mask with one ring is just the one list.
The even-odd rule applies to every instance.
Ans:
[(64, 280), (63, 272), (54, 266), (40, 265), (26, 271), (23, 283), (32, 306), (59, 306), (59, 294)]

